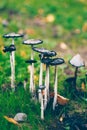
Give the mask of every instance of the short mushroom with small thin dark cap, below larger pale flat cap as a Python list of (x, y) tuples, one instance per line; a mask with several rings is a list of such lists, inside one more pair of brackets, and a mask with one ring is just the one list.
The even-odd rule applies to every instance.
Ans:
[[(28, 63), (28, 64), (31, 64), (31, 66), (32, 66), (32, 64), (36, 63), (37, 61), (36, 60), (26, 60), (25, 62)], [(30, 87), (29, 88), (30, 88), (30, 92), (34, 93), (35, 86), (34, 86), (32, 69), (30, 70)]]

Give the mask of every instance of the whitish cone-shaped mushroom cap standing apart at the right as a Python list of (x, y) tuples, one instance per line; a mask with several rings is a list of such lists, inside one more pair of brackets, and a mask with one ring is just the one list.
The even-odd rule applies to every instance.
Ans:
[(85, 66), (85, 62), (81, 58), (80, 54), (75, 55), (71, 60), (70, 64), (75, 66), (75, 67), (82, 67)]

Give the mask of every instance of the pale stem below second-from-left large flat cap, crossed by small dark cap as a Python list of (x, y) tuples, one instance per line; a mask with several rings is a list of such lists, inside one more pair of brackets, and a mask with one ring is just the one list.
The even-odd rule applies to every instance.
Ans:
[[(34, 59), (34, 52), (32, 50), (31, 52), (31, 60)], [(34, 93), (35, 90), (35, 85), (34, 85), (34, 63), (31, 65), (31, 70), (30, 70), (30, 92)]]

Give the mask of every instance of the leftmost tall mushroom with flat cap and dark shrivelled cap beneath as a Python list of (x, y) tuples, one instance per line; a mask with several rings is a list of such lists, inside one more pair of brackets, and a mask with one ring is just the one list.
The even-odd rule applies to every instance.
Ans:
[[(16, 34), (16, 33), (8, 33), (3, 35), (4, 38), (11, 38), (12, 39), (12, 45), (9, 46), (9, 48), (5, 47), (4, 51), (10, 51), (10, 49), (14, 48), (14, 39), (23, 37), (23, 34)], [(13, 49), (14, 50), (14, 49)], [(12, 91), (15, 91), (15, 51), (11, 50), (10, 52), (10, 63), (11, 63), (11, 88)]]

